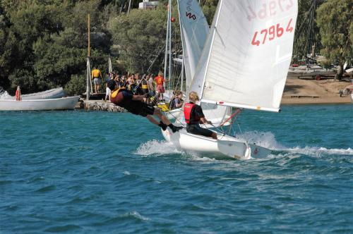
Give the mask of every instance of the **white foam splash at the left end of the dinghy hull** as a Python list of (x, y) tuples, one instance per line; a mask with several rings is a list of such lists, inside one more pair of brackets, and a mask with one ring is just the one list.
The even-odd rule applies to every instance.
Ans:
[(143, 144), (140, 144), (136, 149), (136, 154), (148, 156), (152, 154), (163, 155), (163, 154), (181, 154), (182, 152), (177, 149), (171, 142), (150, 140)]

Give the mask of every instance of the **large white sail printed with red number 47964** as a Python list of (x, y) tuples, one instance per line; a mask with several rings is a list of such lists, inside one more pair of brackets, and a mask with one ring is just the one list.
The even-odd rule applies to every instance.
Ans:
[[(278, 110), (292, 58), (297, 0), (222, 0), (196, 78), (202, 99)], [(212, 38), (212, 39), (210, 39)], [(207, 53), (203, 51), (203, 56)], [(203, 78), (203, 79), (202, 79)], [(194, 79), (195, 80), (195, 79)], [(200, 85), (200, 83), (202, 85)]]

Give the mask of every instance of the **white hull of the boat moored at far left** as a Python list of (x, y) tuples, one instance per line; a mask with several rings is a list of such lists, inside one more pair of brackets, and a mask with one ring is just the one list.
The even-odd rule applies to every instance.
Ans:
[(0, 111), (49, 111), (75, 109), (80, 97), (37, 100), (0, 100)]

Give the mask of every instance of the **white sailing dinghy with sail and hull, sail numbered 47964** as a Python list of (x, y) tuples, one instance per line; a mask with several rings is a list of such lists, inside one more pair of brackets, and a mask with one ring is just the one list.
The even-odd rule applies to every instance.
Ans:
[[(193, 20), (191, 0), (178, 2), (187, 10), (179, 17)], [(297, 12), (297, 0), (220, 0), (189, 91), (197, 92), (201, 103), (280, 111)], [(179, 149), (202, 156), (250, 159), (271, 153), (225, 133), (217, 133), (218, 140), (186, 130), (162, 134)]]

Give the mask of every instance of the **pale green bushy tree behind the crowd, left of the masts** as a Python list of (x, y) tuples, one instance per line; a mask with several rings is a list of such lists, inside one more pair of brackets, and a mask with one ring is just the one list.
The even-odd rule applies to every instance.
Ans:
[[(145, 73), (160, 54), (165, 43), (166, 19), (167, 9), (160, 4), (155, 10), (134, 9), (109, 21), (113, 42), (119, 47), (128, 71)], [(155, 64), (154, 73), (162, 68), (162, 60)]]

